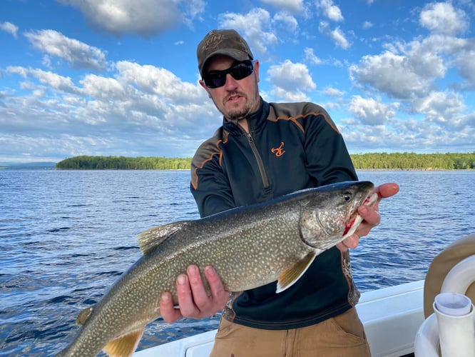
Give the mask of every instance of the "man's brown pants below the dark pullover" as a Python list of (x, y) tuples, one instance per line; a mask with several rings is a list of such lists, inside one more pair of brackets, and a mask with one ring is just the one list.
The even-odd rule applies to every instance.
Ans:
[(210, 357), (368, 357), (357, 311), (304, 328), (262, 330), (220, 321)]

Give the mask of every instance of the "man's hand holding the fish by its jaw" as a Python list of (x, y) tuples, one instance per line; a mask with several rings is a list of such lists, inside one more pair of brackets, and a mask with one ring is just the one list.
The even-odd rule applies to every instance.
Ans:
[(378, 193), (378, 201), (372, 206), (359, 206), (358, 213), (363, 218), (363, 221), (351, 236), (337, 244), (337, 248), (340, 251), (356, 248), (359, 243), (359, 238), (366, 236), (373, 227), (379, 224), (381, 221), (381, 216), (379, 216), (379, 201), (381, 201), (382, 198), (394, 196), (399, 192), (399, 186), (397, 183), (383, 183), (381, 186), (374, 188), (374, 192)]

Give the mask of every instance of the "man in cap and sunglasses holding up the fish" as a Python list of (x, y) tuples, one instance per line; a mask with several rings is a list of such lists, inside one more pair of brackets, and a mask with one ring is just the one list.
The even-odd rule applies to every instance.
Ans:
[[(234, 30), (213, 30), (198, 45), (200, 85), (223, 114), (223, 126), (196, 152), (191, 192), (201, 216), (267, 201), (286, 193), (357, 175), (327, 112), (311, 103), (270, 104), (259, 94), (259, 61)], [(381, 198), (394, 183), (377, 188)], [(177, 278), (179, 309), (164, 293), (160, 314), (171, 322), (223, 310), (211, 356), (370, 356), (354, 305), (348, 248), (379, 224), (378, 204), (359, 207), (357, 232), (320, 254), (294, 286), (275, 293), (269, 284), (231, 296), (211, 266)], [(203, 268), (203, 267), (202, 267)]]

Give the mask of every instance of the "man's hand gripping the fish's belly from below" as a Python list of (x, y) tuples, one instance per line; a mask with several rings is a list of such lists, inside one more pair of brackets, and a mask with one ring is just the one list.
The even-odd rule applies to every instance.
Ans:
[(213, 316), (226, 306), (230, 291), (226, 291), (218, 273), (212, 266), (205, 267), (205, 278), (210, 285), (210, 296), (205, 291), (198, 266), (188, 266), (186, 274), (176, 279), (178, 305), (173, 307), (170, 293), (160, 298), (160, 316), (168, 323), (178, 318), (205, 318)]

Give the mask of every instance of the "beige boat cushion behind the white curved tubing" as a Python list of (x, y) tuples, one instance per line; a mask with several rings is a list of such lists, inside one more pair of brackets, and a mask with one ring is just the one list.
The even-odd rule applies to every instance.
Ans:
[[(426, 281), (424, 283), (424, 316), (427, 318), (434, 312), (432, 303), (438, 293), (444, 278), (453, 268), (456, 263), (464, 260), (465, 258), (475, 254), (475, 233), (470, 234), (464, 238), (454, 241), (450, 246), (447, 246), (441, 251), (432, 261), (427, 271)], [(466, 296), (471, 298), (471, 301), (475, 303), (475, 283), (466, 291)]]

